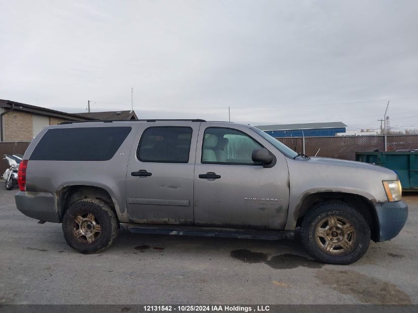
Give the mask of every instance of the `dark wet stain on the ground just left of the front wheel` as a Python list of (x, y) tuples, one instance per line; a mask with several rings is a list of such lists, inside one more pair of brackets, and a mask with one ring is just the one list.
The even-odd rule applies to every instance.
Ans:
[(266, 253), (239, 249), (232, 250), (231, 257), (245, 263), (264, 263), (275, 269), (290, 269), (298, 267), (322, 268), (324, 266), (314, 260), (289, 253), (273, 256), (269, 259), (269, 256)]

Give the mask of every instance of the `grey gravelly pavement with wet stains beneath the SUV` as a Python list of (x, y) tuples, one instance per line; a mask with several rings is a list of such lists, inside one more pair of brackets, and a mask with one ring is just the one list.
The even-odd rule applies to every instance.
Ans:
[(404, 196), (400, 235), (333, 266), (300, 240), (123, 232), (103, 253), (82, 255), (61, 224), (21, 214), (16, 192), (0, 191), (0, 304), (418, 304), (418, 193)]

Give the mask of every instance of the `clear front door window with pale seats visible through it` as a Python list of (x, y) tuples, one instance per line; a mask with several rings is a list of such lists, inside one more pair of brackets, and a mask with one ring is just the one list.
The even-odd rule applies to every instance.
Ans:
[(240, 131), (210, 127), (205, 130), (202, 163), (254, 165), (251, 155), (263, 146)]

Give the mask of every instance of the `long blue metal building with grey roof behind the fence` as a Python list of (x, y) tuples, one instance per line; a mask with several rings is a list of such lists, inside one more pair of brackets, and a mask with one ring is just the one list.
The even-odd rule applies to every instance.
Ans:
[(318, 137), (335, 136), (336, 133), (345, 133), (345, 128), (347, 125), (342, 122), (330, 122), (260, 125), (256, 127), (273, 137)]

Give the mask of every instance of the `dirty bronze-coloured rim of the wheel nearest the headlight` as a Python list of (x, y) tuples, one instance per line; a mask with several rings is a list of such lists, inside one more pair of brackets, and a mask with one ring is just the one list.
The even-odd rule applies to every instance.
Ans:
[(315, 229), (318, 246), (327, 254), (351, 252), (356, 240), (356, 229), (340, 216), (328, 216)]

